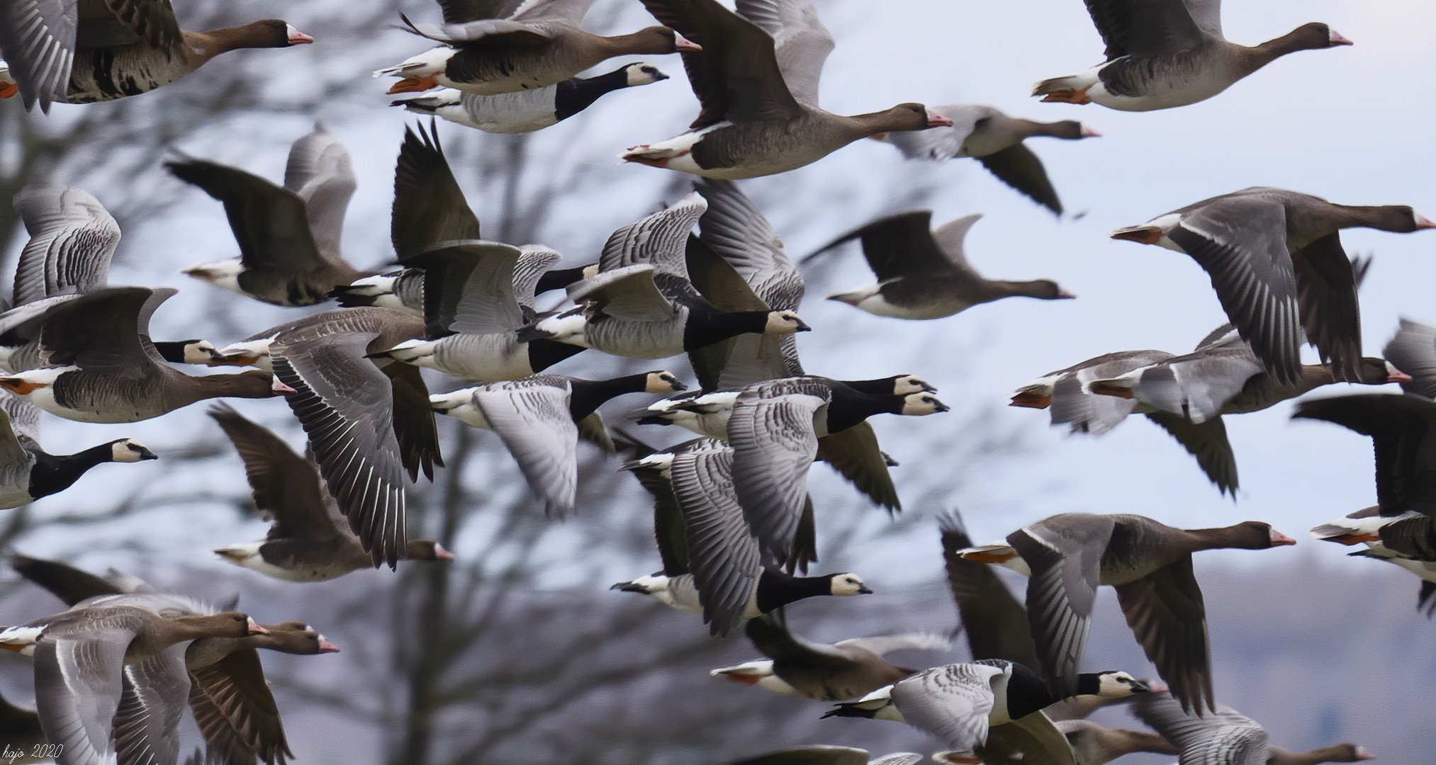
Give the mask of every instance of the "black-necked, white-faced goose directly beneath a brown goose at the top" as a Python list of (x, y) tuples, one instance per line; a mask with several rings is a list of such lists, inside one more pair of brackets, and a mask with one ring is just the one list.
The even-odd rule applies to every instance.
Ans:
[(557, 125), (615, 90), (666, 79), (668, 75), (656, 66), (638, 62), (596, 78), (573, 78), (534, 90), (481, 96), (444, 88), (418, 98), (395, 100), (391, 106), (435, 115), (487, 133), (527, 133)]

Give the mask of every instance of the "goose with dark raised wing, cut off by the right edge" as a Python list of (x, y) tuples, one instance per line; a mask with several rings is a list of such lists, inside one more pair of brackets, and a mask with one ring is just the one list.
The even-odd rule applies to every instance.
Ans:
[[(1307, 400), (1294, 419), (1321, 419), (1370, 436), (1376, 451), (1376, 507), (1311, 530), (1318, 540), (1369, 544), (1383, 558), (1436, 563), (1432, 474), (1436, 403), (1416, 396), (1367, 393)], [(1406, 564), (1399, 564), (1406, 568)], [(1425, 565), (1410, 565), (1417, 576)], [(1425, 578), (1425, 577), (1423, 577)], [(1430, 588), (1423, 581), (1422, 601)]]

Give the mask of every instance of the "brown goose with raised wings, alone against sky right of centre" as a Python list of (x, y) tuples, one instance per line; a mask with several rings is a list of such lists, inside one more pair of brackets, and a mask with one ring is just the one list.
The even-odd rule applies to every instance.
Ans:
[(890, 215), (843, 234), (804, 258), (804, 263), (831, 247), (860, 240), (863, 255), (877, 281), (827, 299), (893, 319), (942, 319), (1004, 297), (1076, 297), (1047, 278), (997, 281), (978, 274), (968, 264), (962, 243), (979, 218), (979, 214), (966, 215), (933, 231), (929, 210)]

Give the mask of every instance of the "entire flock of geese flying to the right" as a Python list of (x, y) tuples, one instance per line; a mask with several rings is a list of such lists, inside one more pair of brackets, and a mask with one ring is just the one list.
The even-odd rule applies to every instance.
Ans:
[[(764, 656), (714, 675), (834, 702), (826, 716), (898, 721), (939, 739), (948, 764), (1097, 765), (1136, 751), (1183, 765), (1354, 762), (1343, 743), (1291, 752), (1255, 721), (1219, 703), (1202, 590), (1192, 555), (1267, 550), (1294, 540), (1259, 521), (1182, 530), (1142, 515), (1060, 514), (1004, 540), (974, 544), (942, 521), (942, 548), (972, 662), (926, 670), (890, 665), (895, 650), (945, 650), (948, 639), (889, 634), (820, 644), (788, 632), (785, 607), (808, 597), (872, 590), (854, 573), (807, 576), (817, 521), (807, 489), (827, 462), (875, 505), (899, 510), (890, 468), (867, 423), (876, 415), (946, 412), (910, 373), (837, 380), (810, 373), (796, 334), (803, 274), (735, 179), (773, 175), (873, 138), (903, 156), (971, 156), (1060, 214), (1058, 195), (1028, 138), (1097, 135), (1074, 121), (1017, 119), (981, 105), (900, 103), (864, 115), (819, 106), (833, 37), (811, 0), (642, 0), (661, 26), (597, 36), (582, 29), (586, 0), (439, 0), (441, 22), (402, 17), (432, 44), (375, 72), (398, 80), (396, 106), (485, 132), (528, 132), (599, 98), (668, 78), (629, 63), (577, 75), (625, 55), (678, 53), (701, 105), (686, 132), (629, 148), (632, 164), (699, 177), (695, 191), (615, 231), (597, 263), (559, 268), (543, 244), (482, 237), (434, 126), (409, 128), (399, 148), (392, 244), (399, 270), (345, 260), (340, 233), (355, 175), (323, 126), (294, 142), (283, 184), (178, 156), (167, 169), (217, 200), (240, 255), (185, 273), (214, 287), (304, 313), (227, 344), (155, 340), (151, 317), (172, 288), (108, 284), (121, 231), (90, 194), (32, 187), (14, 198), (30, 240), (0, 313), (0, 499), (13, 508), (67, 489), (102, 462), (158, 455), (134, 439), (73, 455), (46, 452), (39, 412), (125, 423), (221, 398), (281, 399), (306, 433), (297, 452), (227, 405), (211, 418), (238, 452), (264, 540), (215, 553), (260, 574), (320, 581), (404, 561), (445, 561), (435, 541), (406, 532), (405, 484), (444, 466), (435, 415), (493, 431), (534, 504), (554, 518), (577, 504), (577, 443), (617, 452), (600, 406), (663, 395), (632, 415), (698, 438), (665, 449), (635, 445), (623, 468), (653, 495), (661, 571), (616, 584), (701, 614), (715, 636), (742, 630)], [(1212, 98), (1275, 59), (1350, 44), (1310, 23), (1258, 46), (1228, 42), (1219, 0), (1087, 0), (1106, 60), (1044, 80), (1044, 102), (1170, 109)], [(281, 20), (181, 30), (168, 0), (9, 0), (0, 4), (0, 98), (90, 103), (167, 86), (236, 49), (314, 39)], [(814, 257), (857, 240), (875, 283), (830, 299), (880, 317), (932, 320), (981, 303), (1074, 297), (1050, 280), (978, 274), (964, 240), (979, 215), (932, 227), (910, 211), (837, 235)], [(1297, 416), (1370, 436), (1377, 504), (1313, 530), (1351, 553), (1422, 580), (1436, 610), (1436, 327), (1403, 322), (1384, 359), (1361, 352), (1357, 287), (1366, 263), (1347, 258), (1344, 228), (1436, 228), (1410, 207), (1353, 207), (1279, 188), (1249, 188), (1122, 228), (1113, 238), (1190, 255), (1231, 319), (1190, 353), (1119, 350), (1044, 375), (1012, 405), (1048, 409), (1053, 425), (1101, 435), (1143, 413), (1176, 438), (1222, 492), (1236, 461), (1223, 415), (1267, 409), (1335, 382), (1400, 383), (1407, 395), (1308, 400)], [(536, 297), (563, 290), (572, 307)], [(1321, 363), (1304, 365), (1302, 344)], [(696, 386), (669, 370), (582, 379), (550, 367), (587, 350), (628, 359), (686, 355)], [(190, 375), (184, 365), (251, 367)], [(573, 365), (570, 363), (572, 369)], [(457, 377), (467, 388), (445, 385)], [(915, 425), (916, 426), (916, 425)], [(263, 680), (257, 649), (337, 650), (303, 621), (258, 624), (236, 604), (57, 561), (16, 554), (13, 567), (67, 610), (0, 630), (0, 647), (33, 657), (36, 709), (0, 705), (0, 743), (62, 764), (174, 764), (188, 706), (204, 736), (194, 761), (286, 762), (293, 756)], [(1028, 577), (1025, 606), (991, 570)], [(1100, 586), (1110, 586), (1160, 683), (1127, 672), (1083, 672)], [(1152, 731), (1086, 722), (1130, 703)], [(9, 751), (9, 746), (7, 746)], [(859, 749), (813, 746), (747, 764), (913, 764)]]

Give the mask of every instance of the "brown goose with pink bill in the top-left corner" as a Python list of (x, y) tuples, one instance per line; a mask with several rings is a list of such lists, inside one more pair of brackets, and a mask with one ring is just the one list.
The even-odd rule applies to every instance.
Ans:
[(313, 37), (279, 19), (208, 32), (181, 30), (169, 0), (16, 0), (0, 7), (0, 98), (93, 103), (134, 96), (243, 47), (290, 47)]

